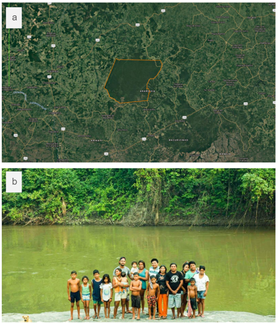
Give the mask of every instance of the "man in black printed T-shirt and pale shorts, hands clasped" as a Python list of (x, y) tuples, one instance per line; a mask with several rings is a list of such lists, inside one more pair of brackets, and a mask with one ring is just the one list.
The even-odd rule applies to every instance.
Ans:
[(176, 263), (170, 264), (170, 271), (166, 273), (166, 286), (169, 289), (168, 307), (172, 309), (172, 319), (175, 317), (175, 307), (177, 307), (177, 318), (179, 318), (182, 307), (181, 287), (183, 285), (183, 275), (177, 271)]

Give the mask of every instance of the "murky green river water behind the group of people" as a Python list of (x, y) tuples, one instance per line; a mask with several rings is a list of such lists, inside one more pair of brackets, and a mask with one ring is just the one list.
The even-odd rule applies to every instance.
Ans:
[(210, 280), (207, 311), (275, 315), (275, 229), (199, 226), (2, 226), (2, 313), (68, 311), (71, 271), (112, 277), (121, 256), (147, 269), (195, 260)]

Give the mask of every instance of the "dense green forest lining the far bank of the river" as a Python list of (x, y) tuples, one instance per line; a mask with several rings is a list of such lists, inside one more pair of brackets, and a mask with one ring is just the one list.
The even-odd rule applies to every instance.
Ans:
[(2, 224), (275, 225), (275, 169), (2, 169)]

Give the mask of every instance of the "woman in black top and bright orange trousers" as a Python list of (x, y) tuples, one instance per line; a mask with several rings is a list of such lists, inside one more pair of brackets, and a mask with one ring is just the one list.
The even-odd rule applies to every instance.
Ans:
[[(168, 295), (169, 290), (166, 286), (166, 267), (165, 265), (161, 265), (159, 269), (159, 273), (156, 275), (156, 282), (159, 284), (160, 295), (158, 297), (158, 318), (167, 318), (167, 308), (168, 308)], [(163, 301), (163, 309), (162, 309), (162, 301)]]

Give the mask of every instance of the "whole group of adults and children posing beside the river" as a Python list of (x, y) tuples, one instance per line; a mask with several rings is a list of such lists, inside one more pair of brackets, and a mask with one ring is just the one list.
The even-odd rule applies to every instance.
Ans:
[[(208, 290), (209, 278), (205, 274), (206, 268), (200, 265), (196, 268), (195, 261), (184, 262), (182, 271), (177, 270), (177, 264), (170, 264), (170, 271), (167, 272), (165, 265), (159, 266), (157, 259), (152, 259), (151, 267), (146, 269), (143, 260), (133, 261), (131, 269), (126, 266), (126, 258), (121, 257), (119, 266), (113, 271), (112, 282), (109, 274), (100, 277), (99, 271), (94, 270), (94, 279), (89, 284), (87, 276), (82, 277), (82, 284), (77, 278), (76, 271), (71, 272), (71, 279), (68, 280), (68, 299), (71, 302), (71, 318), (73, 319), (73, 306), (76, 302), (78, 318), (80, 318), (81, 300), (84, 305), (85, 317), (89, 319), (91, 298), (94, 303), (93, 318), (100, 318), (100, 306), (104, 305), (105, 318), (110, 317), (110, 303), (114, 289), (114, 316), (117, 316), (117, 309), (121, 302), (122, 318), (126, 313), (132, 313), (132, 319), (140, 319), (140, 310), (144, 314), (145, 299), (148, 302), (149, 319), (155, 319), (157, 311), (158, 318), (167, 318), (168, 307), (172, 309), (172, 319), (185, 317), (184, 311), (188, 302), (188, 317), (195, 318), (195, 310), (198, 309), (198, 316), (204, 318), (205, 298)], [(128, 283), (128, 278), (131, 283)], [(131, 307), (129, 309), (129, 291), (131, 291)], [(177, 316), (175, 315), (177, 308)]]

